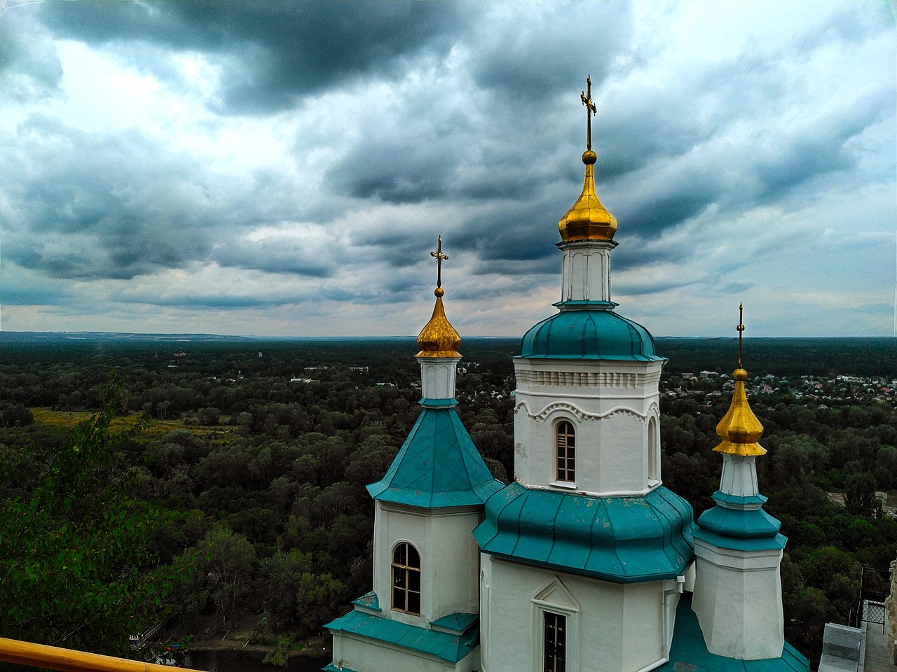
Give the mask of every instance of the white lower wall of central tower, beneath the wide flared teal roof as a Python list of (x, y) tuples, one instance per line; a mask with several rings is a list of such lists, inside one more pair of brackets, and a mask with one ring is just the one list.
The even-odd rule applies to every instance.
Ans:
[(567, 618), (567, 672), (668, 659), (680, 582), (604, 582), (486, 554), (481, 563), (481, 672), (542, 672), (545, 611)]

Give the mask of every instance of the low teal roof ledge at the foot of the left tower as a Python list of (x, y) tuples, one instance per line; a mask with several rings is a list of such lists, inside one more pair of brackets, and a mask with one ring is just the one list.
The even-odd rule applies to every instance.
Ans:
[(353, 633), (378, 642), (420, 651), (451, 663), (465, 658), (480, 644), (479, 628), (470, 628), (464, 634), (442, 633), (399, 623), (383, 616), (363, 614), (361, 611), (350, 611), (324, 627), (331, 632)]

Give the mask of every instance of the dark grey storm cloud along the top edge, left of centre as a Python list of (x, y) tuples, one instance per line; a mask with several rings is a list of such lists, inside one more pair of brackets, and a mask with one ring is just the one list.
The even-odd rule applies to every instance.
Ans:
[(92, 44), (137, 40), (221, 56), (220, 111), (257, 114), (444, 51), (479, 12), (473, 3), (195, 0), (48, 3), (41, 18), (58, 36)]

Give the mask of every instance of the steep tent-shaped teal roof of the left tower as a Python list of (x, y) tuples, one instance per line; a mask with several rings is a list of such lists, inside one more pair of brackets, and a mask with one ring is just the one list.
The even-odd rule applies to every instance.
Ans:
[(432, 509), (483, 504), (502, 487), (453, 407), (424, 407), (386, 476), (368, 486), (374, 499)]

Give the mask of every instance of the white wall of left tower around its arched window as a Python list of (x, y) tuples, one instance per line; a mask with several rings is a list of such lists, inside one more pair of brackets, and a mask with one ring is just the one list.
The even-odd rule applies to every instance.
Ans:
[[(470, 530), (482, 521), (482, 507), (427, 510), (379, 500), (374, 504), (373, 589), (384, 614), (418, 627), (449, 614), (475, 614), (480, 551)], [(402, 541), (421, 556), (420, 616), (391, 608), (392, 552)]]

